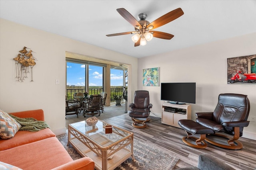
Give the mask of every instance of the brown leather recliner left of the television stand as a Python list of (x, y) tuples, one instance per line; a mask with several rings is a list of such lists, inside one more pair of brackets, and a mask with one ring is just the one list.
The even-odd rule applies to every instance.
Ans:
[(150, 108), (152, 108), (152, 104), (149, 102), (149, 92), (146, 90), (135, 91), (134, 102), (129, 104), (129, 107), (131, 107), (129, 115), (134, 121), (132, 126), (136, 128), (146, 127), (145, 122), (150, 121), (149, 114)]

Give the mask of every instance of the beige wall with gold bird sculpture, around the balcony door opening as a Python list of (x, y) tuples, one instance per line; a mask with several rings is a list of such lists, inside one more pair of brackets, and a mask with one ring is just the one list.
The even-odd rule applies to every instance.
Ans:
[[(34, 82), (30, 78), (23, 83), (15, 79), (13, 58), (24, 46), (36, 52)], [(52, 131), (56, 135), (65, 133), (66, 51), (130, 64), (128, 71), (133, 79), (128, 81), (128, 95), (138, 88), (137, 58), (0, 19), (0, 108), (9, 113), (43, 109)], [(56, 79), (60, 85), (55, 84)]]

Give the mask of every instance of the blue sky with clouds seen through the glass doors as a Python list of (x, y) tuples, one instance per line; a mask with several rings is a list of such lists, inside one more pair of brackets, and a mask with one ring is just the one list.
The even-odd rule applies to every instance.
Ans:
[[(89, 86), (102, 86), (101, 66), (89, 66)], [(67, 85), (85, 86), (85, 64), (67, 62)], [(110, 85), (123, 86), (123, 71), (110, 70)]]

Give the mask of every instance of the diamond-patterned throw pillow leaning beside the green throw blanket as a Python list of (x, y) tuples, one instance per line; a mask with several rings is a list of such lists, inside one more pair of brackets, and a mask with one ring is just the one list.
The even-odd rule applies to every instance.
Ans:
[(0, 138), (10, 139), (18, 132), (21, 125), (8, 113), (0, 109)]

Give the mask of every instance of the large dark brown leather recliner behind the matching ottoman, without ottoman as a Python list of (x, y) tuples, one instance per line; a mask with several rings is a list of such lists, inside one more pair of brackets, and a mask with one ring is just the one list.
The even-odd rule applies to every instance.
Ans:
[[(250, 112), (250, 101), (243, 94), (220, 94), (218, 104), (213, 112), (196, 113), (196, 123), (214, 130), (215, 134), (228, 138), (228, 145), (216, 143), (206, 137), (206, 141), (217, 147), (238, 150), (243, 145), (238, 141), (243, 134), (243, 128), (249, 125), (247, 121)], [(233, 138), (224, 135), (224, 132)]]

